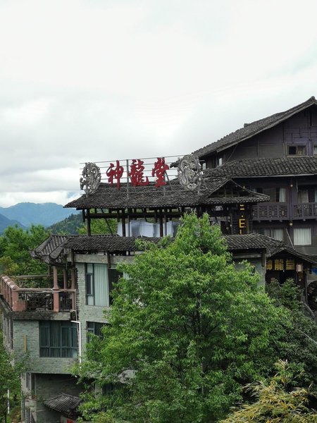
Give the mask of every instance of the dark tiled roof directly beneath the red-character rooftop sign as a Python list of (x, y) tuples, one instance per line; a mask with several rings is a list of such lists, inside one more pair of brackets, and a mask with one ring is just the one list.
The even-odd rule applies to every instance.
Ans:
[[(154, 188), (154, 186), (131, 188), (129, 196), (127, 188), (123, 186), (120, 190), (116, 187), (101, 183), (97, 192), (86, 197), (74, 200), (65, 207), (76, 207), (77, 209), (85, 208), (110, 208), (110, 209), (126, 209), (137, 207), (194, 207), (202, 204), (237, 204), (240, 202), (263, 202), (268, 201), (268, 197), (245, 190), (230, 180), (226, 176), (210, 178), (206, 173), (203, 186), (199, 192), (184, 190), (175, 180), (170, 185), (166, 185), (165, 190)], [(226, 184), (233, 184), (244, 190), (243, 197), (216, 197), (213, 196), (220, 188)]]

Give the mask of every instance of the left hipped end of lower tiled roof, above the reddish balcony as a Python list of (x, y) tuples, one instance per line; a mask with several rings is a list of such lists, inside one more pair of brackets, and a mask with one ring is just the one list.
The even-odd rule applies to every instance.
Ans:
[(63, 252), (63, 244), (70, 235), (49, 235), (42, 244), (35, 250), (30, 252), (35, 259), (40, 259), (46, 264), (54, 264), (56, 262), (63, 262), (61, 252)]

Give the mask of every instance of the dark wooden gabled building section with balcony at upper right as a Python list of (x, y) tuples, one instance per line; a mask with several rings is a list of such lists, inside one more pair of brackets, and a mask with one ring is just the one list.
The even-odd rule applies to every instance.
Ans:
[[(253, 208), (253, 231), (317, 255), (317, 102), (245, 124), (195, 154), (270, 201)], [(220, 166), (219, 166), (220, 165)]]

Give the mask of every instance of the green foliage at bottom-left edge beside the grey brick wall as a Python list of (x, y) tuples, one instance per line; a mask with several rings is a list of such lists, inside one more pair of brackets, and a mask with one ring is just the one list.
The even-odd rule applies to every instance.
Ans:
[(6, 422), (8, 411), (8, 390), (11, 396), (18, 395), (20, 387), (19, 369), (11, 364), (11, 357), (4, 347), (0, 331), (0, 421)]

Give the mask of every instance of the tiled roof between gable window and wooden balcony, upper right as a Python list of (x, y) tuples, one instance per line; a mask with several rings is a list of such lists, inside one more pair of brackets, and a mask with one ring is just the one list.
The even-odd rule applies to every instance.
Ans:
[(309, 176), (317, 175), (316, 156), (275, 157), (228, 161), (207, 171), (210, 177)]

